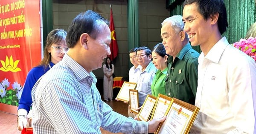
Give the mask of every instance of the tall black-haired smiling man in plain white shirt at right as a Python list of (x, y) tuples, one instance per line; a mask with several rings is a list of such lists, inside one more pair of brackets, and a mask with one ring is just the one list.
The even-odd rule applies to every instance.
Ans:
[(183, 5), (184, 31), (202, 50), (195, 97), (200, 111), (190, 134), (253, 134), (256, 63), (221, 37), (227, 30), (224, 1), (185, 0)]

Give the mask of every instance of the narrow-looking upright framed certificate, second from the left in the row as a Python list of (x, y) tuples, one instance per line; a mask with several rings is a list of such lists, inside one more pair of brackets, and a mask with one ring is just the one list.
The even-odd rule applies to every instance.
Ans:
[(129, 89), (129, 95), (130, 95), (131, 111), (134, 112), (135, 114), (138, 114), (139, 111), (136, 110), (139, 107), (138, 90)]

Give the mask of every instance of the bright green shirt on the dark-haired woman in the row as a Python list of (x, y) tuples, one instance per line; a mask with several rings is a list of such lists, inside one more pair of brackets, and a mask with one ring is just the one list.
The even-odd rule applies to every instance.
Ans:
[(166, 74), (167, 68), (163, 69), (163, 71), (157, 70), (156, 75), (154, 76), (151, 84), (151, 91), (154, 97), (157, 97), (159, 93), (163, 95), (166, 94), (164, 86)]

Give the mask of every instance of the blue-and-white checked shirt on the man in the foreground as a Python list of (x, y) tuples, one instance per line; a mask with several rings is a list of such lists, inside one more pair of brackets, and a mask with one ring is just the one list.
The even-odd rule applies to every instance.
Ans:
[(95, 75), (67, 54), (32, 89), (34, 134), (148, 133), (148, 123), (116, 113), (101, 100)]

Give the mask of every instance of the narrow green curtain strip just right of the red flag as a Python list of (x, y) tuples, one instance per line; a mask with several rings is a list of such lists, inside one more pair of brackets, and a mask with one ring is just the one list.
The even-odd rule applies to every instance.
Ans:
[[(140, 46), (139, 0), (127, 0), (128, 51)], [(129, 66), (132, 64), (129, 62)]]

